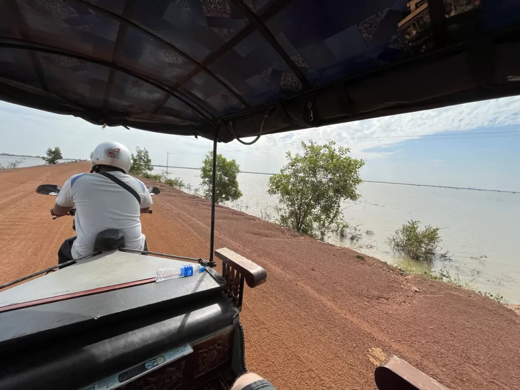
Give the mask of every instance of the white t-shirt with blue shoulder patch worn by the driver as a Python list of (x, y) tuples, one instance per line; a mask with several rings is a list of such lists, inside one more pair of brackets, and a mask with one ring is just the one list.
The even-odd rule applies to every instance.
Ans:
[(139, 179), (119, 171), (109, 173), (132, 187), (139, 194), (141, 205), (131, 193), (100, 174), (80, 173), (68, 179), (56, 203), (63, 207), (76, 206), (77, 239), (72, 244), (73, 258), (93, 253), (97, 233), (106, 229), (121, 230), (126, 248), (144, 249), (140, 209), (150, 207), (152, 197)]

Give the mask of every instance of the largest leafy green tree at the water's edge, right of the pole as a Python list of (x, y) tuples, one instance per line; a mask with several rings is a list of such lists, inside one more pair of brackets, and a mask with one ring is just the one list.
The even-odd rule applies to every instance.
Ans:
[(324, 145), (302, 142), (302, 154), (287, 152), (288, 163), (269, 177), (267, 192), (278, 196), (280, 223), (320, 240), (338, 228), (341, 203), (360, 197), (356, 189), (365, 162), (351, 158), (348, 148), (335, 145), (334, 141)]

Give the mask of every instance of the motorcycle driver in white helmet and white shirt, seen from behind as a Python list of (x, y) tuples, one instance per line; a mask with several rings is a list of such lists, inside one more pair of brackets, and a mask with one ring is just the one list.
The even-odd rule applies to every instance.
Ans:
[(90, 173), (73, 175), (63, 185), (50, 214), (69, 214), (76, 206), (76, 237), (65, 240), (58, 251), (58, 264), (94, 252), (97, 233), (119, 229), (125, 248), (147, 251), (141, 233), (140, 214), (148, 213), (152, 197), (145, 185), (128, 175), (132, 156), (118, 142), (102, 142), (90, 153)]

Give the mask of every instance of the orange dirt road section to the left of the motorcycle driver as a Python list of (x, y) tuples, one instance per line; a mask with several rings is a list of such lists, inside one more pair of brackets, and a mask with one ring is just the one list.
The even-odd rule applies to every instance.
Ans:
[(53, 220), (49, 209), (56, 197), (36, 193), (40, 184), (63, 185), (85, 164), (34, 166), (2, 170), (0, 180), (0, 284), (57, 263), (58, 248), (74, 236), (72, 218)]

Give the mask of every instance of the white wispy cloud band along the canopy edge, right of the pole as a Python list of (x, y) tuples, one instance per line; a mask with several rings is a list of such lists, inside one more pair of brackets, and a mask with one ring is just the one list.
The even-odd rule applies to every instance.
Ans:
[[(383, 118), (350, 122), (291, 133), (263, 136), (254, 146), (238, 146), (236, 142), (224, 150), (256, 153), (261, 150), (299, 150), (301, 141), (322, 142), (334, 139), (349, 147), (357, 157), (374, 159), (388, 157), (396, 151), (383, 148), (406, 137), (441, 134), (444, 132), (468, 132), (481, 127), (520, 125), (520, 97), (466, 103), (434, 110), (419, 111)], [(396, 138), (391, 138), (396, 137)], [(399, 138), (403, 137), (403, 138)]]

